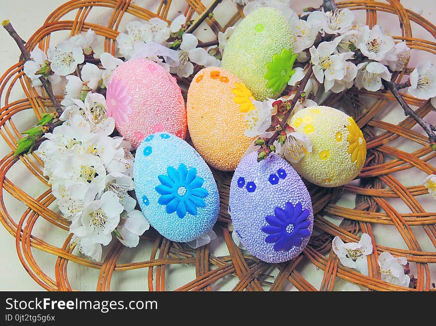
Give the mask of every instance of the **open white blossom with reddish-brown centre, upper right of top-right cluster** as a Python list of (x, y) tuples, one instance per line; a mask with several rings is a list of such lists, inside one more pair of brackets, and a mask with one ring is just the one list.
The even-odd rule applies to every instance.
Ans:
[(382, 61), (386, 55), (395, 47), (392, 37), (382, 33), (379, 25), (373, 29), (365, 26), (363, 29), (362, 39), (357, 44), (357, 48), (365, 57), (371, 60)]

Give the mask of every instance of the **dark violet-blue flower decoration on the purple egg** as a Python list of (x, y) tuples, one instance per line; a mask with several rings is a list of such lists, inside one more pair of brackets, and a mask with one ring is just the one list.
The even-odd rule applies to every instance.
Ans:
[(287, 202), (285, 209), (275, 207), (274, 214), (265, 217), (268, 226), (262, 231), (269, 234), (266, 243), (274, 244), (274, 251), (289, 251), (292, 247), (301, 245), (304, 238), (310, 237), (309, 209), (303, 210), (301, 203), (295, 207)]

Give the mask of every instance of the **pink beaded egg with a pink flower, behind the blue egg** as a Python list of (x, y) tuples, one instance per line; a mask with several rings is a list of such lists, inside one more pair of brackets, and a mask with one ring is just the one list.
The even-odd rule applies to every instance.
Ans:
[(115, 128), (133, 148), (155, 132), (186, 137), (186, 108), (180, 87), (176, 78), (153, 61), (132, 59), (116, 67), (108, 83), (106, 103)]

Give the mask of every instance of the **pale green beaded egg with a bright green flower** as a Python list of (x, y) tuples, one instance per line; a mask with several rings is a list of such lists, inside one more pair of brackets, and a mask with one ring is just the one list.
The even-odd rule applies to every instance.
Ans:
[(242, 79), (256, 99), (277, 98), (292, 74), (293, 45), (286, 17), (275, 8), (262, 7), (237, 25), (221, 66)]

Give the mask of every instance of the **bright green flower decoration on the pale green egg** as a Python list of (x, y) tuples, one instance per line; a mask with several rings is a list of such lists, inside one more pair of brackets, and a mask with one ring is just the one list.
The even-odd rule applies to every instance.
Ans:
[(291, 49), (284, 49), (281, 54), (272, 56), (272, 62), (266, 65), (267, 73), (264, 78), (268, 80), (267, 87), (274, 93), (281, 93), (291, 76), (295, 73), (292, 70), (297, 55)]

